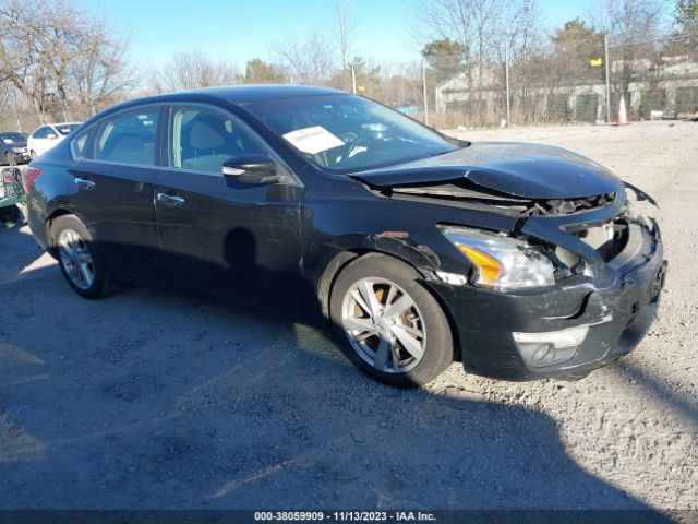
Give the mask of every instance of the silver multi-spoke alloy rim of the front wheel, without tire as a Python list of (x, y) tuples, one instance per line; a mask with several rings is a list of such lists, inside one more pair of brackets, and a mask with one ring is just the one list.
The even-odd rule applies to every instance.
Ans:
[(426, 331), (417, 303), (397, 284), (362, 278), (346, 293), (342, 327), (354, 352), (386, 373), (405, 373), (424, 356)]

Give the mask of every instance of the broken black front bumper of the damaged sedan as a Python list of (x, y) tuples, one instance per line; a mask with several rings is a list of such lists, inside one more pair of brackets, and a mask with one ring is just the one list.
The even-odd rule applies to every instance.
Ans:
[[(527, 226), (539, 238), (569, 247), (564, 222), (569, 219)], [(467, 371), (506, 380), (574, 380), (637, 346), (657, 315), (664, 285), (659, 228), (636, 226), (626, 248), (609, 262), (578, 248), (591, 259), (594, 276), (573, 276), (551, 288), (497, 291), (428, 281), (448, 306)]]

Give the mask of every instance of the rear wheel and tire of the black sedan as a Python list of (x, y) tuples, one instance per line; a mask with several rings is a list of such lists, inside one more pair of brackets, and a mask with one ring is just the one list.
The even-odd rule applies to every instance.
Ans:
[[(51, 237), (61, 273), (77, 295), (96, 299), (116, 290), (115, 282), (96, 252), (92, 234), (76, 216), (56, 218)], [(86, 277), (89, 273), (92, 278)]]

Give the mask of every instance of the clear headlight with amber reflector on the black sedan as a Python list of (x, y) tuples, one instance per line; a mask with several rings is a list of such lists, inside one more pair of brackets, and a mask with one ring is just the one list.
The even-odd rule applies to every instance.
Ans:
[(474, 284), (498, 289), (555, 284), (552, 262), (521, 240), (460, 227), (442, 233), (476, 267)]

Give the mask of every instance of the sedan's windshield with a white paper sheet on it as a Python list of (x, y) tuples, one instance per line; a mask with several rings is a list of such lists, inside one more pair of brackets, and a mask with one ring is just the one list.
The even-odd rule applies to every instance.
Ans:
[(458, 147), (456, 141), (358, 96), (281, 98), (251, 103), (245, 109), (332, 172), (402, 164)]

